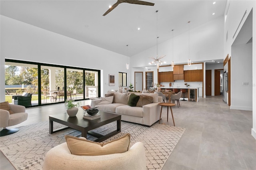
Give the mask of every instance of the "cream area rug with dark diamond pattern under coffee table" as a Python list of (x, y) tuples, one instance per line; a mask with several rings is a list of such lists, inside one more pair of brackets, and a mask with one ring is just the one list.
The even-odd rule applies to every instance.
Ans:
[[(54, 129), (63, 128), (54, 122)], [(106, 134), (116, 127), (116, 122), (109, 123), (95, 132)], [(49, 122), (41, 122), (19, 128), (14, 134), (0, 137), (0, 150), (12, 162), (18, 170), (41, 170), (46, 153), (65, 142), (64, 135), (81, 136), (81, 132), (68, 128), (54, 134), (49, 134)], [(134, 123), (121, 122), (121, 132), (103, 142), (113, 140), (125, 133), (131, 134), (132, 146), (135, 142), (143, 142), (146, 151), (146, 163), (148, 170), (161, 169), (166, 159), (184, 133), (184, 128), (172, 127), (155, 123), (151, 127), (144, 127)], [(88, 140), (95, 140), (88, 135)]]

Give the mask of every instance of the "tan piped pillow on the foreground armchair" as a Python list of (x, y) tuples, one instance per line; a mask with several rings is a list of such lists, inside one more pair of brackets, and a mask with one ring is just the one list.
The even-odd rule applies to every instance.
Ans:
[(70, 152), (80, 156), (97, 156), (123, 153), (129, 149), (130, 134), (127, 133), (120, 138), (109, 142), (93, 142), (90, 140), (65, 135)]

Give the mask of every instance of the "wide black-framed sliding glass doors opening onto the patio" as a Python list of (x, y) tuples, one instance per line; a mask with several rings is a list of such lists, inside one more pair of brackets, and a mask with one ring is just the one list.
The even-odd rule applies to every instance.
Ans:
[[(100, 70), (5, 60), (6, 101), (32, 93), (32, 106), (84, 100), (100, 94)], [(39, 71), (38, 71), (39, 70)]]

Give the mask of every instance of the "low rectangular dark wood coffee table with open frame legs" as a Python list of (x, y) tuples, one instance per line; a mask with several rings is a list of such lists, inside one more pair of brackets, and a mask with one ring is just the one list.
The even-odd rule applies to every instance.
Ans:
[[(121, 115), (116, 115), (113, 113), (107, 113), (103, 111), (99, 111), (98, 114), (100, 115), (100, 118), (94, 119), (94, 120), (83, 119), (84, 111), (82, 110), (79, 110), (75, 117), (69, 117), (67, 113), (51, 115), (49, 116), (50, 134), (59, 132), (67, 128), (73, 128), (82, 132), (82, 137), (87, 138), (87, 134), (90, 134), (98, 138), (94, 140), (95, 142), (102, 142), (103, 140), (121, 131)], [(116, 121), (116, 130), (114, 130), (113, 132), (110, 132), (109, 134), (102, 135), (102, 134), (98, 134), (96, 132), (90, 131), (92, 129), (101, 127), (103, 125), (106, 125), (114, 121)], [(53, 131), (53, 122), (60, 123), (67, 127)]]

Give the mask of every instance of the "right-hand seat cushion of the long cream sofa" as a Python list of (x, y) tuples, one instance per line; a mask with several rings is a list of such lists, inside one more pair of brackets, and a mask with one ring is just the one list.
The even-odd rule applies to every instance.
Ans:
[(130, 107), (128, 105), (123, 105), (123, 106), (116, 107), (116, 113), (119, 115), (143, 117), (143, 108), (142, 107)]

